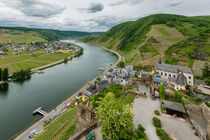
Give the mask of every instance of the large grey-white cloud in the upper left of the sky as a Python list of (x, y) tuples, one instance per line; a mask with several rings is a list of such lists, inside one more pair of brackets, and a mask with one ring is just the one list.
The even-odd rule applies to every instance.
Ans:
[(15, 0), (14, 2), (5, 2), (7, 6), (19, 10), (25, 16), (48, 18), (62, 13), (65, 9), (56, 4), (48, 4), (38, 0)]

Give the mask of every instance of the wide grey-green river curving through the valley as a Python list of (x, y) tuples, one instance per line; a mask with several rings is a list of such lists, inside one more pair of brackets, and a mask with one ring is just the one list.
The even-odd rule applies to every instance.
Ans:
[(39, 119), (39, 115), (32, 115), (33, 110), (40, 106), (47, 112), (54, 109), (96, 77), (99, 68), (108, 67), (117, 59), (103, 48), (76, 44), (84, 49), (79, 58), (45, 69), (44, 74), (33, 74), (22, 83), (11, 82), (7, 90), (0, 91), (0, 140), (11, 138)]

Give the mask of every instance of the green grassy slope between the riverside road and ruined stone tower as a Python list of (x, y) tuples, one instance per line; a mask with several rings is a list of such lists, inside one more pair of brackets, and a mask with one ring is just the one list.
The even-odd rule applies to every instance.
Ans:
[(70, 108), (46, 126), (34, 140), (66, 140), (76, 131), (77, 107)]

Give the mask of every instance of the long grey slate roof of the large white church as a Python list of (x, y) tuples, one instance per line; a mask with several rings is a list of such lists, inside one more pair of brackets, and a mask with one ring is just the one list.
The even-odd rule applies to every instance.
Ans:
[(157, 64), (156, 70), (167, 71), (167, 72), (172, 72), (172, 73), (182, 72), (182, 73), (193, 74), (190, 68), (184, 68), (184, 67), (179, 67), (179, 66), (170, 65), (170, 64)]

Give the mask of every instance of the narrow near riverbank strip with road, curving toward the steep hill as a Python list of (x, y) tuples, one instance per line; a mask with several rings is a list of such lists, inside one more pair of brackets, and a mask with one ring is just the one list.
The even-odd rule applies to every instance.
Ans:
[[(107, 50), (107, 49), (106, 49)], [(109, 50), (108, 50), (109, 51)], [(110, 51), (112, 52), (112, 51)], [(114, 52), (112, 52), (114, 53)], [(41, 118), (39, 121), (37, 121), (35, 124), (33, 124), (31, 127), (29, 127), (27, 130), (25, 130), (23, 133), (21, 133), (20, 135), (18, 135), (15, 139), (17, 140), (25, 140), (25, 139), (28, 139), (28, 136), (30, 134), (30, 132), (34, 129), (37, 129), (37, 128), (42, 128), (43, 130), (43, 124), (44, 124), (44, 121), (50, 119), (53, 114), (62, 114), (64, 111), (65, 111), (65, 108), (66, 108), (66, 105), (67, 103), (69, 103), (73, 98), (75, 98), (78, 93), (81, 91), (81, 89), (84, 89), (84, 88), (87, 88), (89, 87), (90, 84), (94, 83), (94, 81), (102, 76), (105, 72), (107, 72), (111, 67), (116, 67), (116, 65), (118, 64), (119, 61), (121, 61), (121, 56), (117, 53), (114, 53), (116, 56), (118, 56), (118, 59), (111, 65), (109, 66), (108, 68), (106, 68), (104, 70), (103, 73), (100, 73), (98, 76), (96, 76), (95, 78), (93, 78), (92, 80), (88, 81), (87, 83), (85, 83), (81, 88), (79, 88), (79, 90), (77, 90), (76, 92), (74, 92), (72, 95), (70, 95), (70, 97), (68, 97), (66, 100), (64, 100), (61, 104), (59, 104), (56, 109), (53, 109), (51, 110), (49, 113), (47, 113), (43, 118)]]

